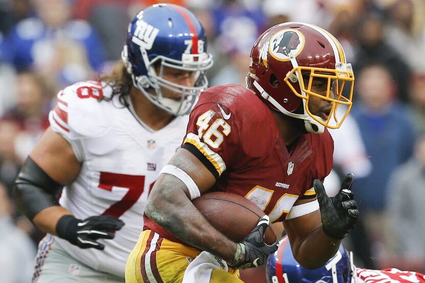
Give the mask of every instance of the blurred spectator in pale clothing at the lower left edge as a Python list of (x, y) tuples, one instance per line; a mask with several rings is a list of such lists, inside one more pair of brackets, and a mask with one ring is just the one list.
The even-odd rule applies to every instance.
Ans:
[(35, 246), (13, 224), (14, 206), (0, 182), (0, 278), (5, 283), (28, 283), (34, 266)]

